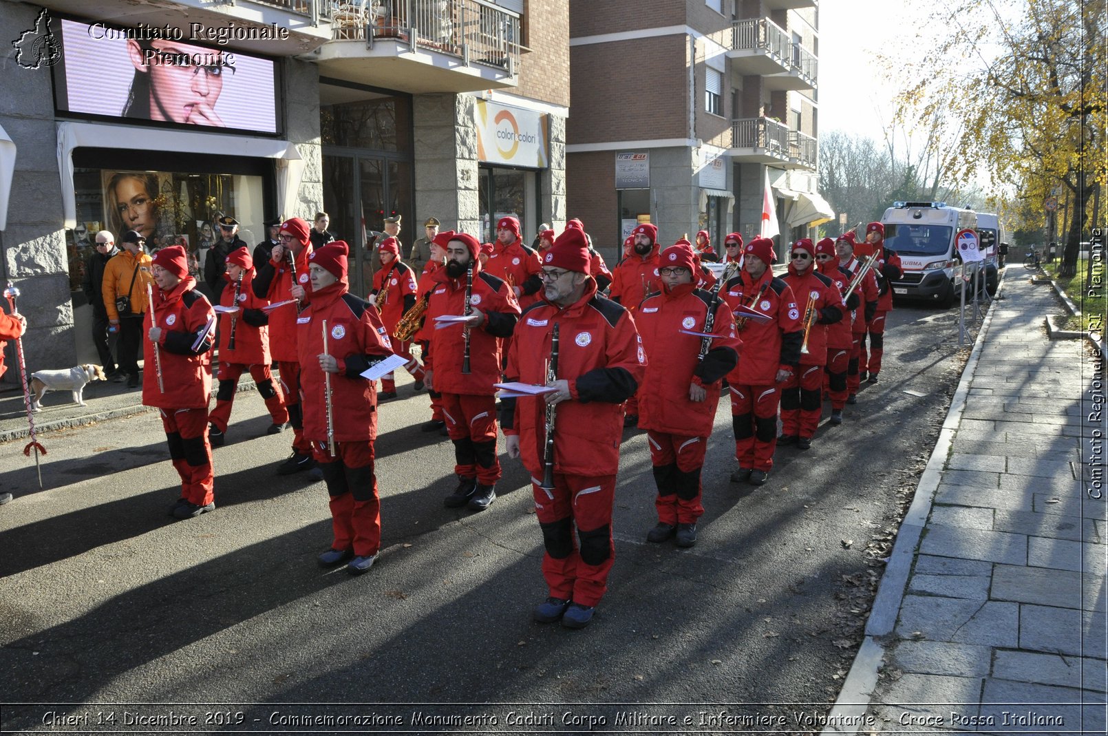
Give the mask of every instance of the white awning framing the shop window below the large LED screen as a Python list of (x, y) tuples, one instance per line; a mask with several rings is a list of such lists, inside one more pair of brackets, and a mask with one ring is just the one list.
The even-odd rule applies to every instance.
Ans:
[[(125, 143), (122, 143), (125, 142)], [(172, 151), (176, 153), (213, 153), (225, 156), (253, 156), (277, 160), (278, 212), (291, 216), (304, 160), (296, 146), (288, 141), (263, 139), (250, 135), (224, 135), (222, 133), (189, 133), (184, 131), (162, 131), (136, 127), (134, 125), (102, 125), (98, 123), (58, 123), (58, 167), (62, 180), (62, 215), (65, 227), (76, 226), (76, 195), (73, 191), (73, 149), (127, 149), (138, 151)], [(2, 143), (0, 143), (2, 147)], [(0, 163), (3, 162), (0, 151)], [(14, 146), (12, 146), (14, 165)], [(2, 173), (2, 168), (0, 168)], [(10, 182), (10, 174), (9, 174)], [(0, 183), (2, 186), (2, 183)], [(0, 229), (2, 214), (7, 212), (7, 190), (0, 190)]]

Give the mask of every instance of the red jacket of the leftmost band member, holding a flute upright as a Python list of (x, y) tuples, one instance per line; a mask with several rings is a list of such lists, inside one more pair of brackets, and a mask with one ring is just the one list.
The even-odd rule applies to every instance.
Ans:
[[(157, 389), (154, 344), (147, 335), (154, 320), (162, 328), (163, 393)], [(154, 289), (154, 308), (143, 319), (143, 359), (146, 380), (142, 402), (161, 409), (207, 408), (212, 393), (212, 346), (215, 343), (215, 310), (207, 297), (196, 290), (196, 279), (186, 276), (168, 294)]]

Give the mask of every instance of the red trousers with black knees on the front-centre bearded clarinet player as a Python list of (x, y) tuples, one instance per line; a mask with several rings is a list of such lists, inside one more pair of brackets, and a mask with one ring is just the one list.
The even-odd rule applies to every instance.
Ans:
[(550, 595), (596, 605), (608, 590), (608, 572), (616, 555), (612, 543), (616, 477), (554, 473), (554, 490), (546, 491), (538, 488), (536, 473), (531, 474), (535, 515), (546, 550), (543, 577)]

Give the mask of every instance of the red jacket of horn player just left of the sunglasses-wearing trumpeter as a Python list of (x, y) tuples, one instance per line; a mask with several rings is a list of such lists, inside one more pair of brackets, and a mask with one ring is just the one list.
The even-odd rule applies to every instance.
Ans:
[(737, 331), (742, 339), (742, 360), (727, 376), (736, 386), (772, 386), (777, 371), (800, 365), (800, 307), (789, 285), (766, 268), (757, 282), (742, 272), (730, 279), (721, 294), (731, 309), (749, 306), (772, 317), (769, 321), (748, 319), (742, 325), (741, 315)]

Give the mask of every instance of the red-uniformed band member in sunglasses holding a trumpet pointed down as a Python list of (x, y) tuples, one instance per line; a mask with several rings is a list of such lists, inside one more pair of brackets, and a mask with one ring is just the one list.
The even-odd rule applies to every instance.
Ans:
[(823, 411), (823, 371), (828, 361), (828, 325), (842, 320), (845, 308), (834, 283), (815, 268), (815, 246), (803, 237), (792, 244), (789, 273), (782, 279), (801, 306), (798, 372), (781, 386), (781, 436), (778, 444), (812, 446)]

